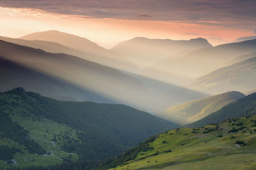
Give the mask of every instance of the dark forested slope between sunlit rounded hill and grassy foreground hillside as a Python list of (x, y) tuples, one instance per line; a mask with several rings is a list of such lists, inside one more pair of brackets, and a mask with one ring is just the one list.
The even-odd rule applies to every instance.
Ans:
[(207, 124), (216, 124), (228, 118), (239, 118), (256, 114), (256, 93), (238, 99), (234, 103), (224, 106), (205, 118), (186, 125), (186, 127), (202, 127)]

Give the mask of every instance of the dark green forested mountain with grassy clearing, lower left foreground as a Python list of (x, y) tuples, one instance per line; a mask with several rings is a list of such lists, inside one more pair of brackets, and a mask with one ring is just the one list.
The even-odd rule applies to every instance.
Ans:
[(57, 101), (21, 87), (0, 93), (0, 110), (1, 167), (99, 161), (177, 127), (122, 104)]

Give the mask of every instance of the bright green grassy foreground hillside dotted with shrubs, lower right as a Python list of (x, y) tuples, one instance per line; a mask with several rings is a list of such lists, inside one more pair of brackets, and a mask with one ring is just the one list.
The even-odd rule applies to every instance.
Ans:
[(256, 116), (148, 138), (102, 169), (255, 169)]

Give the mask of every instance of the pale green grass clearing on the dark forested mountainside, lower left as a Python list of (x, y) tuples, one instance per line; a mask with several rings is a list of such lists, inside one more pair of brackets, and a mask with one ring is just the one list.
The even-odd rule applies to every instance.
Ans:
[[(67, 125), (51, 122), (50, 120), (37, 120), (35, 117), (23, 118), (17, 115), (12, 115), (12, 120), (18, 122), (22, 127), (29, 131), (29, 135), (37, 143), (39, 143), (44, 150), (47, 151), (44, 155), (38, 155), (36, 153), (28, 153), (26, 148), (19, 143), (12, 141), (11, 139), (1, 139), (0, 145), (16, 146), (22, 151), (15, 153), (14, 159), (17, 164), (12, 166), (26, 167), (32, 165), (49, 166), (53, 164), (60, 164), (64, 158), (68, 158), (71, 155), (72, 161), (77, 160), (79, 157), (76, 153), (67, 153), (61, 150), (61, 134), (68, 134), (70, 138), (77, 139), (76, 131), (71, 129)], [(57, 143), (53, 143), (52, 139), (56, 136)], [(8, 167), (8, 164), (1, 160), (0, 167)]]

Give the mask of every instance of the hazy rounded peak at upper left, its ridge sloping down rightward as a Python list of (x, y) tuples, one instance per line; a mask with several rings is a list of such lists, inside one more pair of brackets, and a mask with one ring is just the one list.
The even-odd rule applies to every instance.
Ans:
[(76, 55), (77, 57), (81, 57), (85, 60), (90, 60), (104, 66), (114, 67), (125, 71), (134, 71), (134, 69), (138, 69), (124, 56), (116, 52), (106, 50), (96, 43), (93, 43), (89, 39), (75, 36), (73, 34), (51, 30), (28, 34), (26, 36), (22, 36), (20, 39), (51, 41), (59, 43), (61, 45), (67, 46), (67, 48), (70, 50), (67, 52), (62, 51), (60, 48), (56, 48), (57, 53), (61, 52), (67, 53), (69, 55)]

